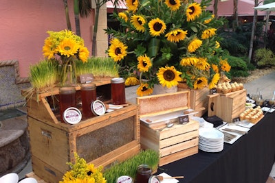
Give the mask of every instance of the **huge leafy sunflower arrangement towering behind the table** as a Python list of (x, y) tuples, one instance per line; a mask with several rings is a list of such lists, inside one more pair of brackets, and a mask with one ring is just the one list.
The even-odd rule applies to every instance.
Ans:
[(128, 9), (113, 13), (120, 29), (106, 30), (113, 37), (107, 51), (120, 63), (126, 84), (140, 84), (137, 95), (150, 95), (154, 84), (170, 88), (186, 82), (195, 89), (216, 86), (223, 60), (216, 32), (223, 19), (206, 10), (210, 3), (126, 0)]

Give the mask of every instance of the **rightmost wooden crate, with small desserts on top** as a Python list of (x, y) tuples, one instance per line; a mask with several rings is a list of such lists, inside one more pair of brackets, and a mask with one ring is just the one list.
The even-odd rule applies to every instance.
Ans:
[(216, 115), (223, 121), (232, 123), (245, 110), (246, 90), (232, 93), (208, 95), (208, 117)]

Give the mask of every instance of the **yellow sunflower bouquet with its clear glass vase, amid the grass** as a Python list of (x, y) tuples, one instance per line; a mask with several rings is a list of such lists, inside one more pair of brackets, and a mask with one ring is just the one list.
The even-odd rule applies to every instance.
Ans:
[(48, 31), (49, 36), (45, 39), (43, 55), (48, 60), (56, 60), (60, 64), (60, 82), (65, 84), (68, 73), (70, 83), (76, 83), (75, 60), (87, 62), (89, 51), (84, 46), (84, 40), (72, 31), (62, 30), (60, 32)]

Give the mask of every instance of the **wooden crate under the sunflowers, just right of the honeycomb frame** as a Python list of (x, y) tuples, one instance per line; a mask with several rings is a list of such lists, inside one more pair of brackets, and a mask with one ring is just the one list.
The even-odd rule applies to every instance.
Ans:
[(209, 88), (204, 87), (198, 90), (190, 89), (185, 83), (179, 83), (177, 85), (178, 91), (189, 90), (190, 91), (190, 108), (198, 111), (195, 114), (196, 117), (202, 117), (208, 109), (208, 95)]

